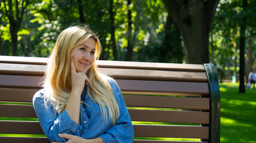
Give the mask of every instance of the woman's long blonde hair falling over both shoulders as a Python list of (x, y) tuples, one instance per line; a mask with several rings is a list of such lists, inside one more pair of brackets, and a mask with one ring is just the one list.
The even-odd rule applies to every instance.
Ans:
[[(88, 26), (68, 27), (61, 32), (50, 55), (44, 74), (43, 88), (47, 95), (45, 102), (50, 101), (58, 113), (65, 109), (71, 92), (71, 50), (89, 38), (93, 38), (95, 41), (96, 61), (100, 58), (101, 45), (95, 33)], [(105, 120), (112, 119), (112, 125), (115, 125), (119, 117), (119, 107), (109, 82), (103, 77), (103, 74), (98, 72), (95, 62), (86, 75), (90, 80), (88, 96), (100, 105), (103, 118)], [(109, 114), (107, 114), (107, 110)]]

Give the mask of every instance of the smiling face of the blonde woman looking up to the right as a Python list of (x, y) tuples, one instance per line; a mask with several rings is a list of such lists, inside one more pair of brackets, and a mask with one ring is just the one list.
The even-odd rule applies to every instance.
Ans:
[(86, 73), (95, 61), (95, 41), (93, 38), (87, 39), (76, 48), (71, 50), (70, 57), (74, 58), (74, 65), (77, 72)]

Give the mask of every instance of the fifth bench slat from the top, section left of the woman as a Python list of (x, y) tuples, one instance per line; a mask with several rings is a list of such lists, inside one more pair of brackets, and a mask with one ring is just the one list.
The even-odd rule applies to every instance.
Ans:
[(37, 118), (33, 105), (0, 104), (0, 117)]

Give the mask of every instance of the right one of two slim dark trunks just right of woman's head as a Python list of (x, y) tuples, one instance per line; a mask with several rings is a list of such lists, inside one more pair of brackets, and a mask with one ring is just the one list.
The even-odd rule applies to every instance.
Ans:
[(130, 9), (130, 5), (131, 5), (131, 0), (127, 0), (127, 7), (128, 7), (128, 46), (127, 46), (127, 55), (125, 58), (125, 61), (132, 61), (132, 57), (133, 57), (133, 47), (132, 47), (132, 36), (131, 36), (131, 9)]

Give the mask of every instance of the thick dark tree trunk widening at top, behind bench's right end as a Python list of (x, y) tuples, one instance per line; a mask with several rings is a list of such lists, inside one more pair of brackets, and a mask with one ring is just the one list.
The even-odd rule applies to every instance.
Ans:
[(186, 63), (209, 63), (209, 32), (219, 0), (162, 0), (179, 26)]

